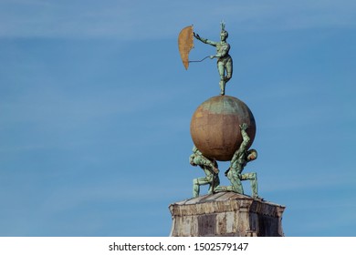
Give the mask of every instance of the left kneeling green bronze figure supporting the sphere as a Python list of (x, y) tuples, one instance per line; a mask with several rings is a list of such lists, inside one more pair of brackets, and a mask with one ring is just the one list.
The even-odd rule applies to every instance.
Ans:
[(213, 194), (214, 189), (220, 184), (219, 169), (216, 161), (213, 162), (209, 158), (205, 158), (199, 149), (194, 146), (189, 163), (194, 167), (199, 166), (205, 173), (205, 177), (193, 179), (193, 197), (199, 196), (200, 186), (203, 185), (209, 185), (208, 193)]

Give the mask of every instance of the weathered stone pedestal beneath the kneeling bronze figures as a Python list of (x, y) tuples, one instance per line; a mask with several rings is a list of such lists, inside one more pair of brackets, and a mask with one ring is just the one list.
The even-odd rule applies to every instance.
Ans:
[(219, 192), (169, 206), (173, 237), (281, 237), (284, 206)]

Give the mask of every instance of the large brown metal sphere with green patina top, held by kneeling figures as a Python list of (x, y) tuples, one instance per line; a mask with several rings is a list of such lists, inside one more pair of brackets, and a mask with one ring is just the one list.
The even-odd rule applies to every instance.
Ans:
[(229, 161), (242, 143), (239, 125), (246, 123), (249, 148), (256, 135), (255, 118), (246, 104), (230, 96), (211, 97), (194, 112), (191, 136), (206, 158)]

